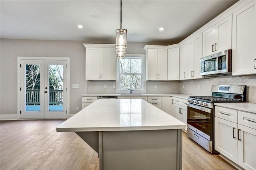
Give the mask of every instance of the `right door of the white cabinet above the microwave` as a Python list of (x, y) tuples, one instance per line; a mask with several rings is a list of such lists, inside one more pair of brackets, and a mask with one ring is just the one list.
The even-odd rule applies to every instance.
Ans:
[(215, 25), (214, 52), (232, 48), (232, 15)]

